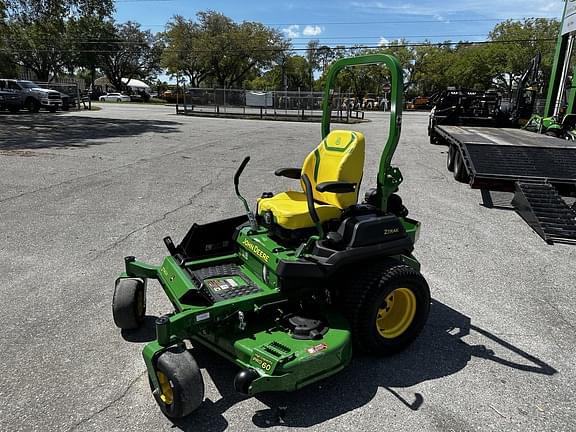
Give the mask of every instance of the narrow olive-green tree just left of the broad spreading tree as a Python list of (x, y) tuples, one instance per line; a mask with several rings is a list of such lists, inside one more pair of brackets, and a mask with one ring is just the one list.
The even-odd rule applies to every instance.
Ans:
[(198, 52), (202, 49), (200, 25), (176, 15), (167, 27), (163, 35), (166, 49), (162, 53), (162, 66), (171, 75), (185, 75), (192, 87), (200, 87), (211, 72), (206, 56)]

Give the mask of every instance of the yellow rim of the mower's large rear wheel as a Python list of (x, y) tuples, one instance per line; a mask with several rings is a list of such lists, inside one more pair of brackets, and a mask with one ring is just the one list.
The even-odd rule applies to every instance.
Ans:
[(404, 333), (416, 315), (416, 296), (408, 288), (397, 288), (384, 299), (376, 315), (380, 336), (393, 339)]

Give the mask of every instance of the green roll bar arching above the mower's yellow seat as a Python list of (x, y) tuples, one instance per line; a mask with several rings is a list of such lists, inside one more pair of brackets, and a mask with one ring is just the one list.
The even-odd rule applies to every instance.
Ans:
[(398, 168), (392, 167), (392, 156), (398, 146), (402, 129), (402, 97), (404, 79), (402, 68), (396, 57), (389, 54), (369, 54), (357, 57), (349, 57), (337, 60), (330, 66), (324, 87), (322, 103), (322, 139), (330, 133), (330, 93), (334, 88), (334, 82), (338, 72), (347, 66), (362, 66), (370, 64), (384, 64), (390, 71), (392, 78), (390, 96), (390, 131), (388, 140), (380, 157), (380, 167), (377, 181), (377, 200), (382, 210), (386, 210), (388, 197), (398, 190), (402, 182), (402, 174)]

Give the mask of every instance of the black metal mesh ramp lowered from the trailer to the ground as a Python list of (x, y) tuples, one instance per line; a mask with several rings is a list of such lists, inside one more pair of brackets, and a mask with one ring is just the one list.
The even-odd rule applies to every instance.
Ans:
[(548, 182), (516, 182), (512, 205), (547, 243), (576, 244), (576, 212)]

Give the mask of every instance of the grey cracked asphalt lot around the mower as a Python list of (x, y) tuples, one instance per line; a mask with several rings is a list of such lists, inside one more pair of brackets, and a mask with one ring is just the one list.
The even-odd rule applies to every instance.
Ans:
[[(232, 177), (246, 155), (240, 187), (251, 203), (293, 187), (273, 172), (299, 166), (320, 126), (102, 106), (0, 115), (0, 430), (575, 430), (576, 248), (549, 246), (513, 211), (481, 206), (415, 112), (394, 161), (423, 225), (415, 254), (433, 297), (416, 343), (255, 398), (234, 392), (233, 365), (195, 349), (206, 400), (173, 425), (141, 357), (169, 303), (152, 285), (147, 326), (123, 336), (111, 315), (123, 257), (159, 262), (164, 236), (240, 214)], [(386, 135), (384, 113), (367, 118), (342, 126), (366, 134), (364, 188)]]

